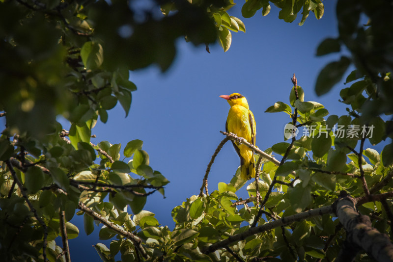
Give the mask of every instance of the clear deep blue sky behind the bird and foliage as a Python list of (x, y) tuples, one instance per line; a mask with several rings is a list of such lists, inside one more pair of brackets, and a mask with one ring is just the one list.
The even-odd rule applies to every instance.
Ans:
[[(219, 95), (238, 92), (246, 96), (255, 116), (256, 145), (263, 150), (283, 141), (283, 127), (290, 118), (285, 113), (264, 111), (277, 101), (289, 104), (293, 73), (305, 90), (306, 101), (317, 101), (332, 114), (346, 113), (346, 105), (338, 102), (343, 84), (320, 98), (314, 93), (319, 71), (337, 57), (315, 56), (323, 39), (337, 36), (336, 1), (324, 1), (323, 18), (317, 21), (310, 13), (303, 26), (297, 25), (300, 14), (292, 24), (279, 20), (275, 6), (266, 17), (258, 11), (253, 18), (244, 19), (239, 3), (229, 13), (242, 19), (246, 33), (232, 33), (228, 52), (215, 45), (209, 54), (204, 46), (194, 47), (179, 39), (178, 53), (168, 72), (162, 74), (157, 67), (131, 72), (130, 80), (138, 91), (133, 93), (129, 116), (125, 118), (117, 105), (109, 112), (108, 122), (98, 122), (92, 130), (97, 135), (92, 139), (95, 144), (108, 140), (121, 143), (123, 149), (130, 140), (143, 140), (150, 166), (170, 181), (166, 198), (159, 193), (149, 196), (144, 210), (154, 212), (159, 222), (171, 229), (171, 210), (199, 193), (210, 157), (224, 138), (219, 131), (225, 130), (229, 105)], [(239, 163), (227, 143), (210, 171), (209, 191), (216, 190), (219, 182), (229, 183)], [(248, 194), (243, 190), (238, 196), (247, 198)], [(104, 242), (109, 246), (110, 241), (98, 239), (97, 227), (92, 235), (85, 236), (82, 216), (71, 222), (81, 229), (80, 236), (70, 240), (72, 261), (98, 260), (91, 245)]]

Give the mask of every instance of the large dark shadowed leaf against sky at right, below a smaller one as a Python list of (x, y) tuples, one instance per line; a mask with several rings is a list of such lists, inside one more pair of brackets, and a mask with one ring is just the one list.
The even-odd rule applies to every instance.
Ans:
[(329, 92), (347, 71), (351, 60), (341, 56), (339, 61), (327, 64), (319, 73), (315, 84), (315, 92), (318, 96)]

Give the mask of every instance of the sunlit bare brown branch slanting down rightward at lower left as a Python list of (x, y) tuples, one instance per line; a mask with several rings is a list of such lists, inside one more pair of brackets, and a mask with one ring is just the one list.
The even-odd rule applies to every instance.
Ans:
[(146, 251), (144, 250), (144, 248), (141, 246), (141, 242), (142, 240), (138, 237), (135, 236), (134, 234), (132, 234), (131, 232), (125, 231), (122, 227), (120, 227), (119, 225), (116, 225), (115, 223), (112, 223), (111, 221), (107, 220), (105, 217), (103, 217), (102, 215), (100, 215), (99, 213), (94, 212), (93, 210), (89, 209), (88, 207), (86, 207), (84, 205), (84, 203), (79, 202), (78, 204), (78, 208), (82, 211), (84, 211), (84, 213), (88, 214), (89, 216), (93, 217), (96, 220), (99, 220), (101, 223), (103, 223), (105, 226), (109, 227), (110, 229), (112, 229), (113, 231), (117, 232), (117, 234), (122, 235), (127, 237), (128, 239), (130, 239), (134, 246), (135, 249), (137, 251), (140, 252), (140, 254), (142, 254), (142, 257), (146, 258)]

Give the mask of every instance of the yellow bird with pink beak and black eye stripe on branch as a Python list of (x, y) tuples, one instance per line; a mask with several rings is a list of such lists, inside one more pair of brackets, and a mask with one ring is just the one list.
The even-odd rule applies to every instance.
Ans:
[[(226, 131), (235, 133), (237, 136), (241, 136), (249, 143), (255, 145), (255, 120), (247, 99), (239, 93), (220, 97), (226, 99), (230, 105), (225, 124)], [(232, 144), (240, 157), (241, 178), (244, 180), (254, 178), (255, 158), (253, 151), (246, 145), (239, 145), (233, 141)]]

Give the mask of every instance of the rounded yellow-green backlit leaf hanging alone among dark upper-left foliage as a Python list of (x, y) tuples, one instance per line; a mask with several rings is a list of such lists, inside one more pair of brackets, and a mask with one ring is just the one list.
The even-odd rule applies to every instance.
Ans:
[(104, 61), (104, 51), (99, 43), (86, 42), (81, 49), (81, 57), (87, 69), (97, 69)]

